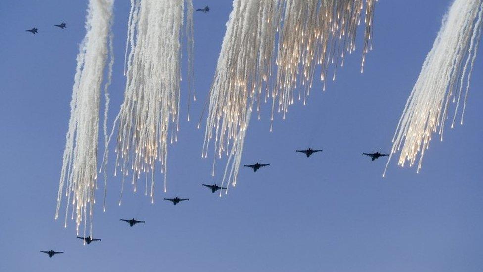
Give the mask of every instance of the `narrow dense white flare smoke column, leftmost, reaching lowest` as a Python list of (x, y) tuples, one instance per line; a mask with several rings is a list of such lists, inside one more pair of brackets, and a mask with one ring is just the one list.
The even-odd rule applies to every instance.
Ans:
[[(89, 0), (86, 18), (86, 36), (79, 46), (77, 69), (74, 77), (71, 116), (66, 135), (66, 145), (60, 174), (57, 209), (58, 218), (62, 197), (65, 194), (65, 222), (69, 205), (72, 204), (72, 219), (76, 215), (76, 231), (84, 222), (86, 234), (87, 220), (92, 236), (92, 213), (96, 203), (94, 191), (97, 189), (97, 150), (99, 132), (99, 103), (101, 85), (109, 51), (112, 53), (112, 6), (114, 0)], [(108, 107), (107, 88), (112, 75), (112, 54), (108, 66), (108, 78), (104, 92), (106, 109)], [(106, 114), (104, 115), (104, 117)], [(105, 120), (104, 120), (105, 121)], [(64, 185), (65, 186), (64, 191)]]

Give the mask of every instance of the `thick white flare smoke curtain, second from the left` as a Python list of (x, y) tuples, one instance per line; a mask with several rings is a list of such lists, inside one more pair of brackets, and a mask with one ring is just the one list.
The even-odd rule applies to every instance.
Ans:
[[(126, 90), (121, 110), (114, 121), (114, 124), (119, 121), (114, 175), (117, 174), (117, 167), (120, 167), (124, 185), (126, 176), (132, 171), (132, 183), (136, 191), (136, 181), (141, 173), (151, 173), (152, 202), (155, 161), (161, 162), (166, 192), (167, 144), (168, 141), (177, 141), (179, 130), (181, 35), (185, 2), (188, 85), (191, 90), (194, 47), (192, 1), (131, 1), (127, 38), (129, 54), (126, 48)], [(170, 124), (174, 126), (174, 131), (169, 130)], [(104, 163), (106, 160), (107, 146)]]

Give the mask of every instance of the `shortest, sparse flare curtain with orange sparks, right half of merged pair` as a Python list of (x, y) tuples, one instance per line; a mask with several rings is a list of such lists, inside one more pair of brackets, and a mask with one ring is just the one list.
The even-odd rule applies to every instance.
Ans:
[[(321, 66), (320, 79), (325, 81), (329, 66), (334, 65), (332, 80), (336, 79), (336, 68), (343, 67), (346, 52), (355, 51), (357, 26), (360, 24), (363, 0), (286, 0), (284, 23), (279, 39), (277, 56), (277, 86), (272, 97), (278, 99), (278, 112), (285, 113), (293, 104), (293, 91), (299, 87), (298, 100), (303, 104), (310, 94), (315, 68)], [(371, 48), (372, 21), (375, 0), (367, 0), (365, 11), (365, 38), (362, 53), (364, 69), (365, 55)], [(273, 111), (272, 109), (272, 122)]]

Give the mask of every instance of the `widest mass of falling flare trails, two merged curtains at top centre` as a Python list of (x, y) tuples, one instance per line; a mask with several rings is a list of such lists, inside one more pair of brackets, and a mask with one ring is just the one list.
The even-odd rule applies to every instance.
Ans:
[[(366, 0), (362, 65), (371, 47), (375, 2)], [(324, 80), (330, 64), (342, 66), (345, 52), (355, 50), (355, 34), (363, 11), (363, 0), (233, 1), (210, 90), (202, 153), (202, 157), (207, 156), (209, 142), (215, 137), (215, 156), (221, 157), (224, 152), (229, 156), (223, 183), (236, 184), (253, 107), (257, 107), (260, 118), (260, 103), (271, 96), (271, 120), (276, 100), (278, 111), (285, 117), (288, 106), (293, 103), (297, 81), (304, 86), (305, 103), (317, 64), (322, 66), (321, 79)], [(273, 63), (277, 67), (275, 78)]]

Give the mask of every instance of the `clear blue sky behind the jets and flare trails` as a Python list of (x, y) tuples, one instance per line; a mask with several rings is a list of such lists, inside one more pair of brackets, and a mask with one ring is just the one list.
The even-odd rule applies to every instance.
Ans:
[[(200, 156), (204, 129), (196, 129), (196, 120), (232, 1), (193, 2), (211, 10), (194, 16), (199, 99), (187, 122), (183, 86), (168, 193), (158, 186), (151, 205), (127, 184), (118, 206), (111, 160), (107, 212), (102, 189), (96, 195), (94, 236), (102, 241), (88, 246), (75, 238), (73, 221), (64, 228), (53, 219), (87, 1), (0, 2), (0, 271), (481, 271), (483, 48), (466, 123), (448, 125), (443, 143), (434, 137), (420, 174), (393, 161), (382, 178), (386, 160), (361, 155), (390, 150), (450, 0), (379, 1), (364, 74), (359, 40), (338, 80), (326, 92), (315, 83), (307, 105), (293, 105), (285, 121), (277, 116), (273, 133), (270, 107), (263, 107), (262, 119), (252, 118), (242, 163), (271, 165), (257, 173), (241, 169), (237, 186), (222, 198), (201, 186), (220, 176), (213, 179), (211, 159)], [(129, 7), (128, 0), (115, 3), (109, 127), (123, 99)], [(67, 29), (53, 27), (62, 21)], [(34, 26), (37, 35), (25, 32)], [(295, 153), (308, 147), (324, 152), (309, 159)], [(156, 180), (161, 184), (162, 176)], [(177, 195), (190, 201), (162, 200)], [(133, 217), (146, 223), (130, 228), (119, 221)], [(49, 249), (65, 254), (50, 259), (39, 252)]]

